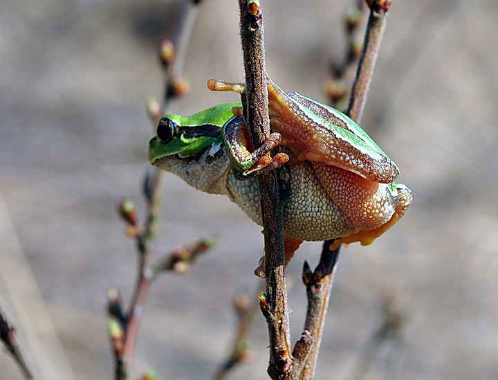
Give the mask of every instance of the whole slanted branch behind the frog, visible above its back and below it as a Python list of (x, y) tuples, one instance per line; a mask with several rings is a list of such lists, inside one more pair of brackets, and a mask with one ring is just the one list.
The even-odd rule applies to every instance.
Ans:
[[(367, 92), (371, 82), (371, 75), (382, 40), (382, 33), (385, 29), (387, 11), (391, 6), (391, 0), (366, 0), (370, 8), (370, 16), (367, 24), (367, 31), (363, 43), (356, 78), (353, 82), (353, 89), (349, 97), (349, 106), (346, 111), (357, 123), (360, 121), (367, 101)], [(325, 321), (326, 309), (329, 305), (329, 298), (332, 289), (335, 264), (338, 260), (340, 247), (330, 251), (329, 248), (333, 240), (324, 242), (322, 257), (314, 272), (311, 271), (305, 262), (303, 269), (303, 280), (306, 284), (306, 294), (308, 296), (308, 311), (306, 315), (305, 332), (311, 334), (313, 345), (310, 353), (306, 356), (306, 363), (302, 365), (302, 372), (293, 379), (311, 380), (315, 372), (315, 366), (320, 348), (323, 324)], [(297, 345), (296, 345), (297, 347)], [(299, 367), (301, 363), (299, 363)]]

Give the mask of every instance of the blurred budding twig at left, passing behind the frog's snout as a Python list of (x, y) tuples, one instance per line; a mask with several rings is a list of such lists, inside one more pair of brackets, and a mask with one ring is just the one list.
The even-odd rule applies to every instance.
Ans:
[[(161, 111), (166, 112), (171, 101), (178, 96), (183, 95), (188, 90), (188, 84), (181, 78), (181, 71), (183, 69), (185, 51), (187, 48), (188, 40), (194, 26), (196, 17), (196, 0), (183, 0), (181, 4), (181, 12), (176, 24), (172, 42), (163, 40), (159, 47), (160, 62), (163, 65), (163, 73), (165, 78), (165, 90), (162, 105), (159, 106), (158, 102), (154, 99), (147, 100), (147, 111), (154, 123), (154, 127), (158, 118), (161, 116)], [(147, 248), (148, 242), (154, 238), (158, 230), (158, 221), (160, 219), (160, 211), (163, 203), (163, 182), (164, 173), (157, 168), (149, 172), (144, 181), (144, 194), (147, 200), (147, 217), (144, 226), (140, 228), (136, 221), (136, 213), (133, 208), (124, 207), (124, 202), (120, 203), (120, 214), (127, 221), (129, 235), (136, 238), (136, 246), (139, 255), (138, 263), (138, 278), (136, 280), (136, 287), (133, 291), (133, 296), (129, 305), (129, 309), (122, 318), (118, 318), (116, 313), (111, 311), (118, 310), (112, 308), (116, 306), (113, 304), (116, 300), (109, 299), (109, 312), (111, 319), (109, 321), (109, 336), (111, 337), (111, 344), (116, 359), (116, 380), (125, 380), (128, 378), (129, 368), (133, 361), (133, 353), (135, 351), (136, 336), (138, 334), (138, 327), (142, 317), (142, 309), (147, 300), (149, 288), (152, 280), (156, 275), (163, 270), (173, 270), (171, 268), (161, 267), (157, 271), (151, 269), (149, 265), (150, 252)], [(205, 244), (206, 247), (212, 244)], [(199, 247), (195, 247), (199, 248)], [(187, 247), (184, 251), (195, 251), (192, 246)], [(190, 251), (189, 251), (190, 250)], [(202, 251), (202, 248), (198, 251)], [(199, 252), (196, 252), (195, 256)], [(186, 263), (194, 260), (192, 257), (186, 257), (185, 260), (178, 260), (180, 254), (175, 255), (178, 265), (180, 262)], [(187, 265), (187, 264), (185, 264)], [(155, 268), (155, 267), (154, 267)], [(122, 310), (121, 310), (122, 312)]]

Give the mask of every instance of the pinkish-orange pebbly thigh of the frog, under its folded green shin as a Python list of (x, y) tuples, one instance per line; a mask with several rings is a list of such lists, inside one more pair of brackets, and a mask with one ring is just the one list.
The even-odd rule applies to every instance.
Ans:
[(329, 197), (351, 220), (353, 230), (372, 230), (391, 219), (397, 202), (386, 184), (325, 163), (312, 165)]

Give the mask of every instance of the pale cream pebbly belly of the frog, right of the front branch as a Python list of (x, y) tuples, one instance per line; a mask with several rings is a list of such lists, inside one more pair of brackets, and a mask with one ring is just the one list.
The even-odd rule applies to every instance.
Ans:
[(351, 232), (351, 222), (327, 196), (309, 161), (291, 166), (290, 186), (284, 210), (286, 235), (317, 241)]

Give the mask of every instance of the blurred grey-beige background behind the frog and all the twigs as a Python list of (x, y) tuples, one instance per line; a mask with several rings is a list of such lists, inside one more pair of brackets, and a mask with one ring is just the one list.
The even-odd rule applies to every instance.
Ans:
[[(263, 1), (279, 86), (326, 102), (351, 3)], [(116, 286), (127, 300), (136, 275), (116, 202), (145, 209), (145, 99), (162, 94), (156, 48), (177, 12), (178, 1), (0, 1), (0, 305), (40, 379), (113, 378), (105, 293)], [(316, 379), (352, 379), (386, 293), (403, 315), (400, 340), (379, 347), (365, 379), (388, 378), (395, 354), (398, 379), (498, 378), (497, 20), (494, 0), (393, 2), (362, 127), (414, 203), (375, 244), (342, 251)], [(184, 73), (192, 89), (178, 114), (237, 99), (205, 87), (243, 80), (236, 1), (203, 1)], [(155, 257), (213, 233), (219, 244), (187, 275), (154, 283), (131, 379), (149, 368), (209, 379), (230, 349), (233, 297), (261, 281), (261, 228), (176, 177), (165, 194)], [(302, 263), (315, 266), (320, 249), (303, 244), (288, 268), (293, 341), (306, 307)], [(258, 315), (252, 362), (231, 378), (266, 379), (267, 345)], [(0, 379), (21, 378), (6, 354), (0, 369)]]

